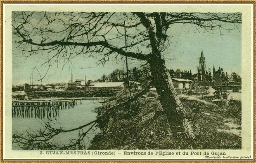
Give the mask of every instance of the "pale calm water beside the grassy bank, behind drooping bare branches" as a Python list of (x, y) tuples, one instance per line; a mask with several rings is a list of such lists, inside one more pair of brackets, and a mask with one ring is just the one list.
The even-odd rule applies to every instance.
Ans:
[[(24, 133), (26, 135), (26, 131), (36, 132), (38, 129), (44, 129), (44, 122), (50, 122), (52, 127), (62, 127), (64, 130), (77, 128), (95, 120), (97, 113), (95, 113), (94, 110), (100, 105), (101, 103), (99, 100), (82, 100), (82, 104), (80, 104), (80, 101), (78, 100), (75, 108), (59, 110), (59, 116), (57, 116), (56, 119), (52, 118), (52, 120), (14, 117), (12, 118), (12, 133)], [(83, 128), (83, 131), (87, 131), (90, 126)], [(86, 149), (90, 146), (92, 138), (94, 138), (99, 131), (99, 129), (94, 127), (87, 133), (84, 138)], [(78, 130), (56, 135), (52, 138), (52, 142), (57, 145), (69, 145), (70, 141), (77, 137)], [(13, 144), (12, 149), (20, 148), (16, 144)]]

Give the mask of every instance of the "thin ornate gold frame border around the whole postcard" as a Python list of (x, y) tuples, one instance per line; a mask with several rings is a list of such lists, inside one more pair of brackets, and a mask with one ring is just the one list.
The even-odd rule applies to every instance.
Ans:
[[(193, 163), (256, 163), (256, 0), (0, 0), (0, 163), (180, 163), (180, 162), (193, 162)], [(253, 3), (254, 5), (254, 160), (253, 161), (4, 161), (3, 160), (3, 3)]]

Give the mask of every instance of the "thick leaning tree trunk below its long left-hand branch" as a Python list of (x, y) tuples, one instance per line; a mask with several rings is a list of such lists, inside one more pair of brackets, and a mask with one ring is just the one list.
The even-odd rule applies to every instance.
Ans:
[(154, 57), (154, 60), (149, 62), (149, 64), (152, 83), (156, 87), (159, 101), (168, 118), (173, 133), (184, 135), (191, 140), (194, 139), (195, 135), (187, 119), (186, 110), (174, 89), (164, 59)]

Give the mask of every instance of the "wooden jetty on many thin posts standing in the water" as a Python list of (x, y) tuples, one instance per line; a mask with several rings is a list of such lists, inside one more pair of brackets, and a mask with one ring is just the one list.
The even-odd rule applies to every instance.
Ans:
[(50, 119), (59, 115), (59, 110), (74, 108), (77, 100), (16, 100), (12, 101), (12, 117)]

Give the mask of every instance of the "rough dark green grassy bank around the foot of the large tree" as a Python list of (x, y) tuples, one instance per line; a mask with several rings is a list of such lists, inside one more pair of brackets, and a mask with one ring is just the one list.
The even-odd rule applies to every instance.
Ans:
[[(230, 127), (225, 124), (229, 119), (241, 124), (239, 101), (232, 104), (237, 108), (234, 110), (233, 106), (221, 108), (203, 99), (180, 96), (197, 135), (194, 140), (185, 141), (179, 133), (172, 133), (156, 94), (118, 105), (128, 99), (128, 95), (122, 95), (97, 108), (102, 132), (95, 136), (89, 149), (241, 149), (241, 137), (227, 132)], [(230, 110), (238, 118), (229, 114)]]

